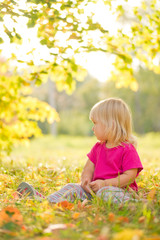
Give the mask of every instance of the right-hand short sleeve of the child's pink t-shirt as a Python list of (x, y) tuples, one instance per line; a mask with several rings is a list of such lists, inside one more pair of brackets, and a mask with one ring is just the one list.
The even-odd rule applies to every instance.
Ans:
[(122, 160), (123, 172), (133, 169), (133, 168), (138, 168), (137, 176), (143, 170), (143, 166), (142, 166), (141, 160), (139, 158), (139, 155), (138, 155), (136, 149), (134, 149), (134, 148), (124, 152), (123, 160)]

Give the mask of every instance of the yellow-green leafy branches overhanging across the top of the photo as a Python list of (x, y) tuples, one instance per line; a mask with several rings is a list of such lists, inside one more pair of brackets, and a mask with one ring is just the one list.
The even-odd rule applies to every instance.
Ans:
[[(13, 22), (10, 29), (4, 24), (10, 42), (21, 42), (22, 36), (16, 30), (16, 23), (25, 17), (27, 26), (38, 29), (41, 44), (49, 49), (51, 59), (46, 61), (44, 70), (33, 72), (31, 79), (36, 78), (40, 84), (41, 74), (51, 71), (60, 90), (73, 89), (75, 75), (79, 73), (75, 55), (84, 51), (114, 54), (113, 76), (117, 84), (130, 86), (133, 90), (138, 87), (134, 77), (135, 65), (146, 66), (155, 73), (160, 72), (160, 1), (143, 0), (132, 7), (129, 0), (120, 3), (104, 0), (119, 22), (114, 35), (94, 21), (91, 9), (96, 2), (98, 0), (1, 1), (0, 21), (9, 16)], [(98, 37), (96, 43), (93, 32)], [(2, 37), (0, 42), (3, 42)], [(34, 62), (28, 64), (31, 66)]]

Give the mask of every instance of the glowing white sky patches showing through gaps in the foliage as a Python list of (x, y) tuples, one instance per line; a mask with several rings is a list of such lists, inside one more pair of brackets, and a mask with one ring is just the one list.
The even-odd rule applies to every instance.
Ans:
[[(121, 1), (124, 4), (124, 1)], [(119, 1), (118, 1), (119, 3)], [(112, 3), (117, 6), (116, 2)], [(136, 6), (140, 4), (140, 1), (128, 1), (125, 3), (128, 6)], [(20, 6), (25, 8), (25, 0), (20, 1)], [(85, 10), (86, 16), (93, 11), (95, 13), (93, 19), (95, 22), (99, 22), (104, 29), (107, 29), (111, 35), (116, 35), (117, 29), (119, 26), (123, 24), (123, 31), (129, 32), (129, 28), (127, 23), (119, 23), (116, 21), (116, 14), (113, 14), (109, 7), (104, 4), (102, 0), (99, 0), (97, 4), (90, 4), (88, 9)], [(13, 22), (9, 18), (9, 16), (4, 17), (5, 24), (8, 29), (12, 29)], [(23, 17), (19, 20), (18, 24), (16, 24), (17, 32), (23, 37), (23, 43), (21, 45), (16, 45), (15, 43), (10, 44), (10, 39), (3, 34), (2, 25), (0, 23), (0, 31), (1, 36), (5, 40), (3, 44), (1, 44), (1, 48), (3, 49), (2, 55), (8, 58), (14, 53), (17, 56), (18, 60), (29, 61), (33, 60), (35, 65), (43, 64), (43, 60), (50, 60), (49, 51), (47, 47), (42, 46), (40, 44), (40, 40), (37, 38), (37, 28), (27, 28), (26, 26), (27, 20)], [(98, 40), (97, 34), (94, 33), (94, 41)], [(59, 41), (64, 42), (64, 34), (63, 37), (59, 35)], [(33, 51), (31, 51), (31, 49)], [(96, 52), (96, 53), (83, 53), (76, 57), (77, 63), (86, 68), (91, 75), (97, 78), (99, 81), (106, 81), (110, 72), (114, 69), (112, 63), (114, 61), (114, 56), (111, 54), (107, 55), (106, 53)], [(25, 64), (20, 64), (19, 67), (24, 67)]]

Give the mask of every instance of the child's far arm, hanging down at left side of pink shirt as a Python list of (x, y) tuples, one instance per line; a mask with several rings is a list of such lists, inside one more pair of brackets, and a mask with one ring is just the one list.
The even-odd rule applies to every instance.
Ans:
[(88, 159), (81, 175), (81, 186), (86, 192), (91, 192), (89, 183), (92, 181), (94, 164)]

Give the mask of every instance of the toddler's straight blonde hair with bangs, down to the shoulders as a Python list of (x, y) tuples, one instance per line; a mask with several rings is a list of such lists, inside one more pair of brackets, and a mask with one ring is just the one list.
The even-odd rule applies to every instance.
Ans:
[(132, 135), (132, 117), (127, 104), (119, 98), (108, 98), (95, 104), (89, 115), (93, 122), (99, 121), (104, 126), (104, 138), (116, 145), (123, 142), (137, 146)]

